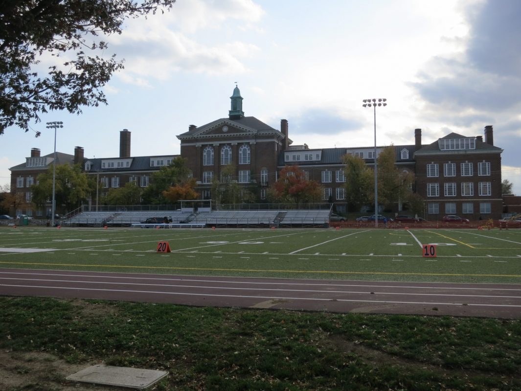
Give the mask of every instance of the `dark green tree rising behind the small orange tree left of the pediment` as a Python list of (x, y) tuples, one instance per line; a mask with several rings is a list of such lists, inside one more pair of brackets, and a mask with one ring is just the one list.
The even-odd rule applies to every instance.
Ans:
[(184, 186), (191, 179), (186, 160), (178, 156), (168, 166), (163, 166), (152, 174), (148, 187), (143, 191), (144, 204), (172, 204), (164, 195), (166, 190), (176, 185)]

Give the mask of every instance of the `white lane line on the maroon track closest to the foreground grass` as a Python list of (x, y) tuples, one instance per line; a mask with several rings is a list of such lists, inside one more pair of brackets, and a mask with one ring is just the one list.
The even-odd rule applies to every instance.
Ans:
[[(153, 295), (178, 295), (178, 296), (205, 296), (205, 297), (237, 297), (247, 299), (271, 299), (271, 300), (309, 300), (309, 301), (331, 301), (329, 298), (316, 298), (316, 297), (279, 297), (279, 296), (250, 296), (250, 295), (211, 295), (211, 294), (196, 294), (196, 293), (184, 293), (184, 292), (162, 292), (154, 290), (129, 290), (129, 289), (97, 289), (97, 288), (67, 288), (67, 287), (53, 287), (53, 286), (33, 286), (33, 285), (3, 285), (15, 288), (42, 288), (42, 289), (66, 289), (66, 290), (88, 290), (88, 291), (104, 291), (104, 292), (125, 292), (125, 293), (137, 293), (137, 294), (153, 294)], [(437, 305), (437, 306), (465, 306), (468, 307), (521, 307), (516, 304), (473, 304), (473, 303), (439, 303), (429, 301), (395, 301), (395, 300), (356, 300), (356, 299), (335, 299), (336, 301), (343, 302), (362, 302), (362, 303), (392, 303), (392, 304), (421, 304), (421, 305)]]

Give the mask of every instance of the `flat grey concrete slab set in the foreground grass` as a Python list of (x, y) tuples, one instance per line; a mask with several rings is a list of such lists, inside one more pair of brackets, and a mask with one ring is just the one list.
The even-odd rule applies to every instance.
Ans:
[(143, 389), (150, 387), (167, 374), (168, 372), (165, 371), (100, 364), (67, 376), (67, 380)]

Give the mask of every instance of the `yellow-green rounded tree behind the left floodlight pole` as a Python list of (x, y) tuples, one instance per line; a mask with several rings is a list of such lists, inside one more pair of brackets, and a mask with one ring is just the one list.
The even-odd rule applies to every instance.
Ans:
[[(53, 198), (53, 168), (38, 176), (38, 185), (32, 185), (32, 202), (44, 206)], [(55, 199), (56, 209), (65, 206), (66, 211), (79, 207), (92, 192), (92, 181), (82, 172), (79, 164), (56, 166)]]

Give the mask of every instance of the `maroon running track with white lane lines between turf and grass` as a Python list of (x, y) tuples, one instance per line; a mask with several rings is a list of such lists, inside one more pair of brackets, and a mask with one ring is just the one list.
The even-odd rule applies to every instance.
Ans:
[(521, 285), (363, 282), (0, 268), (0, 295), (188, 306), (521, 318)]

